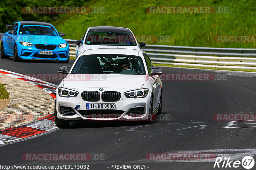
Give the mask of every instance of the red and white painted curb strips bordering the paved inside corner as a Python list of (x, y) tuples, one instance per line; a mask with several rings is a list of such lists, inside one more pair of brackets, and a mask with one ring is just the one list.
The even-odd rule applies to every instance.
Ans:
[[(54, 100), (56, 98), (55, 92), (57, 86), (55, 84), (3, 69), (0, 69), (0, 73), (27, 81), (28, 83), (43, 89), (46, 93), (51, 95)], [(0, 131), (0, 145), (14, 140), (27, 138), (56, 128), (58, 127), (55, 125), (54, 113), (51, 113), (39, 120)]]

